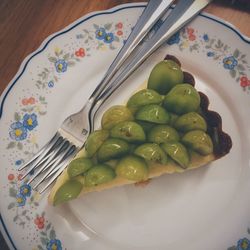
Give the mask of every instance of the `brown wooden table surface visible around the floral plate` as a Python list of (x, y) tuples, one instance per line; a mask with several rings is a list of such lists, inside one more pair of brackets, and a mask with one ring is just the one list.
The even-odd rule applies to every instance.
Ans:
[[(81, 16), (118, 4), (142, 0), (0, 0), (0, 94), (23, 59), (50, 34)], [(250, 6), (214, 1), (205, 11), (235, 25), (250, 37)], [(1, 249), (4, 249), (1, 241)]]

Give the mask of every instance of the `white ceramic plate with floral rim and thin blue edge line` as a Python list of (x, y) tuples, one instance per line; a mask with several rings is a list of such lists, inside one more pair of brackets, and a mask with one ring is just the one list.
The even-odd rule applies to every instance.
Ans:
[[(11, 249), (249, 249), (250, 40), (207, 14), (160, 48), (104, 108), (125, 101), (156, 62), (173, 54), (221, 114), (233, 140), (229, 155), (145, 188), (93, 193), (57, 208), (19, 181), (18, 166), (85, 102), (143, 6), (91, 13), (51, 35), (2, 94), (0, 220)], [(100, 28), (110, 43), (98, 37)]]

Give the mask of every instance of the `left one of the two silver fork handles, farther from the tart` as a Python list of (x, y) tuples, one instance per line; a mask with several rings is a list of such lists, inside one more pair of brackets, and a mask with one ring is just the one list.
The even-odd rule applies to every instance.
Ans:
[(90, 103), (94, 104), (94, 102), (100, 97), (101, 93), (105, 90), (105, 88), (107, 88), (110, 80), (120, 69), (124, 61), (137, 47), (141, 40), (146, 36), (146, 34), (153, 27), (153, 25), (168, 10), (172, 3), (173, 0), (150, 0), (148, 2), (147, 7), (145, 8), (141, 17), (133, 28), (133, 31), (129, 35), (126, 43), (121, 48), (118, 55), (110, 65), (108, 71), (104, 75), (103, 79), (90, 96)]

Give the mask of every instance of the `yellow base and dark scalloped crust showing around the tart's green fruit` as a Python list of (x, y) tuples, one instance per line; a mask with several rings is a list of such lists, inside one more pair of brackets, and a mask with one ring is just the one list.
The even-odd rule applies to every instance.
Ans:
[[(173, 60), (180, 65), (180, 62), (178, 61), (178, 59), (172, 55), (167, 55), (165, 57), (165, 59)], [(195, 85), (194, 77), (188, 72), (184, 72), (184, 82), (189, 83), (193, 86)], [(173, 161), (170, 161), (166, 165), (152, 163), (149, 166), (149, 179), (159, 177), (159, 176), (164, 175), (164, 174), (182, 173), (182, 172), (187, 171), (187, 170), (191, 170), (191, 169), (195, 169), (195, 168), (198, 168), (201, 166), (205, 166), (208, 163), (210, 163), (214, 160), (217, 160), (217, 159), (219, 159), (219, 158), (221, 158), (224, 155), (229, 153), (229, 151), (232, 147), (232, 140), (231, 140), (230, 136), (222, 130), (221, 116), (217, 112), (209, 110), (208, 109), (208, 106), (209, 106), (208, 97), (202, 92), (199, 92), (199, 94), (201, 97), (201, 105), (200, 105), (201, 111), (202, 111), (203, 117), (205, 118), (205, 120), (207, 122), (207, 126), (208, 126), (207, 133), (210, 135), (210, 137), (212, 138), (212, 141), (213, 141), (213, 146), (214, 146), (213, 154), (210, 154), (207, 156), (201, 156), (201, 155), (193, 152), (191, 154), (190, 164), (189, 164), (187, 169), (181, 168), (179, 165), (177, 165)], [(82, 157), (82, 156), (84, 156), (84, 154), (85, 154), (85, 152), (84, 152), (84, 150), (82, 150), (76, 156), (76, 158)], [(65, 169), (63, 171), (63, 173), (57, 179), (54, 186), (52, 187), (52, 190), (51, 190), (51, 192), (49, 194), (49, 198), (48, 198), (48, 201), (50, 204), (53, 205), (53, 200), (54, 200), (54, 196), (55, 196), (56, 191), (68, 179), (69, 179), (69, 176), (67, 173), (67, 169)], [(86, 193), (100, 192), (100, 191), (103, 191), (105, 189), (110, 189), (110, 188), (128, 185), (128, 184), (132, 184), (132, 183), (135, 183), (135, 181), (130, 181), (130, 180), (127, 180), (127, 179), (124, 179), (121, 177), (116, 177), (115, 179), (111, 180), (110, 182), (103, 183), (103, 184), (100, 184), (98, 186), (84, 187), (82, 189), (80, 195), (78, 196), (78, 198)]]

